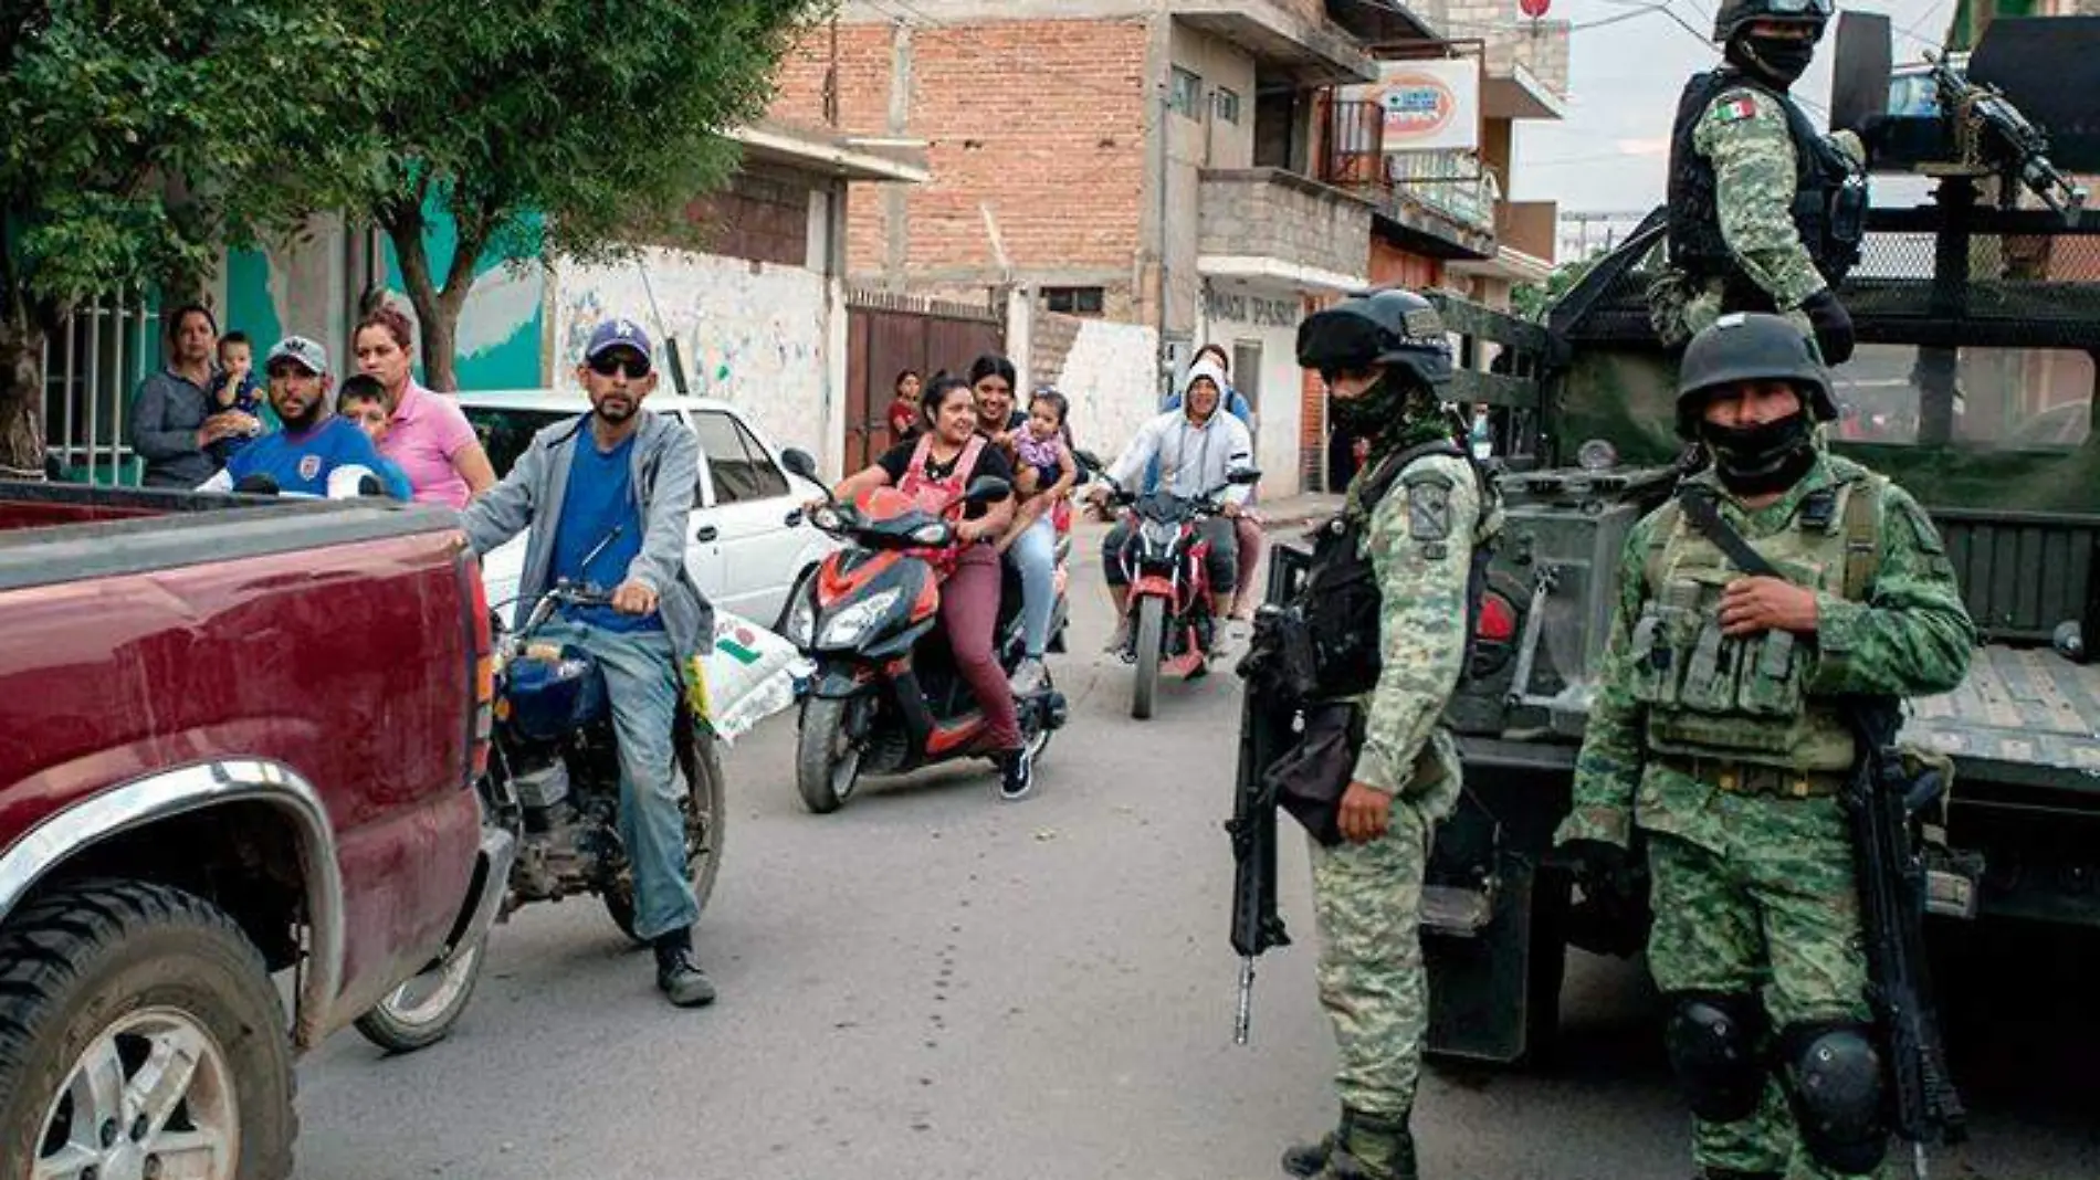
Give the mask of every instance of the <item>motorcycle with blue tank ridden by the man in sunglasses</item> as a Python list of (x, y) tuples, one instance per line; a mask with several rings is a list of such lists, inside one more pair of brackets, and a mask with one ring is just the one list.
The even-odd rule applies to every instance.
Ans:
[[(437, 966), (357, 1018), (368, 1041), (391, 1052), (441, 1041), (475, 993), (489, 928), (508, 922), (521, 905), (596, 894), (613, 926), (640, 943), (634, 869), (620, 840), (620, 741), (605, 674), (580, 647), (536, 642), (556, 609), (609, 603), (611, 596), (594, 588), (556, 584), (514, 634), (504, 634), (502, 619), (489, 615), (498, 636), (496, 708), (489, 768), (477, 789), (485, 829), (498, 836), (498, 846), (514, 850), (506, 886), (491, 890), (489, 897), (500, 897), (494, 911), (466, 922)], [(729, 804), (714, 735), (695, 722), (682, 699), (672, 754), (685, 783), (687, 873), (706, 909), (722, 863)]]

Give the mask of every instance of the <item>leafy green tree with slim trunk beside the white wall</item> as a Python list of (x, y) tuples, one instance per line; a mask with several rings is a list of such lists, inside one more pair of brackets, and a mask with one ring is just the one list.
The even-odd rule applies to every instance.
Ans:
[[(827, 0), (489, 0), (386, 8), (382, 164), (359, 202), (393, 239), (424, 378), (454, 388), (460, 309), (483, 256), (605, 260), (680, 239), (722, 183), (773, 69)], [(430, 210), (458, 231), (437, 273)]]

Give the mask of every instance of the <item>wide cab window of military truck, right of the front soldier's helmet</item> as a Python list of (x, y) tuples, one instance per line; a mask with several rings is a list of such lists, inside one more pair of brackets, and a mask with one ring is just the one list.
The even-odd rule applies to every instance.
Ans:
[(2068, 349), (1865, 344), (1833, 378), (1840, 441), (2071, 451), (2092, 433), (2094, 359)]

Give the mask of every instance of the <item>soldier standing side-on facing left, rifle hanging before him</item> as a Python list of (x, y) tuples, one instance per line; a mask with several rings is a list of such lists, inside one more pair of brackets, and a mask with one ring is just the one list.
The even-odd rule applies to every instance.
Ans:
[[(1438, 386), (1451, 344), (1411, 292), (1344, 300), (1298, 332), (1298, 363), (1327, 380), (1334, 424), (1371, 439), (1344, 512), (1315, 544), (1304, 592), (1319, 674), (1346, 710), (1354, 768), (1340, 840), (1312, 846), (1319, 995), (1334, 1020), (1342, 1121), (1283, 1157), (1294, 1176), (1415, 1180), (1409, 1115), (1422, 1067), (1422, 873), (1451, 813), (1460, 762), (1438, 726), (1464, 666), (1474, 552), (1497, 498), (1453, 441)], [(1354, 653), (1354, 655), (1352, 655)], [(1340, 668), (1348, 672), (1336, 672)]]

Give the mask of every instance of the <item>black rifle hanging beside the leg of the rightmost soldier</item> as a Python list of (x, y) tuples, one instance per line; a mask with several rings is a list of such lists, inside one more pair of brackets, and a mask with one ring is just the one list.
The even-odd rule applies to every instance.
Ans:
[(1911, 1176), (1926, 1176), (1926, 1140), (1968, 1138), (1961, 1096), (1947, 1071), (1926, 970), (1926, 859), (1911, 817), (1945, 794), (1938, 771), (1911, 777), (1896, 754), (1903, 712), (1894, 699), (1844, 705), (1858, 741), (1844, 806), (1858, 859), (1861, 926), (1867, 939), (1867, 999), (1888, 1048), (1894, 1132), (1911, 1144)]

